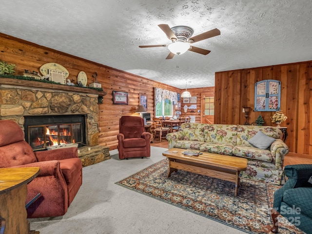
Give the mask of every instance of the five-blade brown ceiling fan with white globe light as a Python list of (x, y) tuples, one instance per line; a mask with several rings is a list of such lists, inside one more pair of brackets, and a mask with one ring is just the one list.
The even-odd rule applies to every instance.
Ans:
[(170, 53), (166, 59), (172, 59), (175, 55), (181, 55), (188, 50), (198, 54), (208, 55), (210, 50), (201, 49), (190, 44), (220, 35), (220, 30), (217, 28), (192, 37), (194, 30), (188, 26), (175, 26), (172, 28), (168, 24), (159, 24), (158, 26), (171, 39), (172, 43), (169, 45), (139, 45), (138, 47), (168, 47)]

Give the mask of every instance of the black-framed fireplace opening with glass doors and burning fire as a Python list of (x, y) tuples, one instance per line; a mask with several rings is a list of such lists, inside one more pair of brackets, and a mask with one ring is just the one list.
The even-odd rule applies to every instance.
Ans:
[(85, 144), (86, 115), (25, 116), (25, 140), (36, 150)]

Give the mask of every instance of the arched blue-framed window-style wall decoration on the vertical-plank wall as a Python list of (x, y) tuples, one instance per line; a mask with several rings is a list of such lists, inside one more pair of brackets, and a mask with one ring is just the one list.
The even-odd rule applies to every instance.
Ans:
[(254, 85), (254, 111), (279, 111), (281, 82), (266, 79)]

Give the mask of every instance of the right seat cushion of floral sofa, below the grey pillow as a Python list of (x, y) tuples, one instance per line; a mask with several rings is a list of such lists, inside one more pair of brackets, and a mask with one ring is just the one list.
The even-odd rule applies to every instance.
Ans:
[(273, 156), (270, 150), (262, 150), (255, 147), (236, 145), (233, 148), (233, 155), (246, 158), (254, 158), (266, 162), (272, 162)]

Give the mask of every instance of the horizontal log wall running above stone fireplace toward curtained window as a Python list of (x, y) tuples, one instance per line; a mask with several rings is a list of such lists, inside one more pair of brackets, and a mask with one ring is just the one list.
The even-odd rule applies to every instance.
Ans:
[[(126, 73), (96, 62), (81, 59), (51, 48), (40, 46), (22, 39), (0, 33), (0, 60), (16, 64), (15, 75), (22, 75), (24, 70), (39, 71), (41, 65), (56, 62), (69, 71), (69, 79), (77, 84), (77, 76), (84, 71), (88, 84), (93, 83), (92, 75), (98, 73), (98, 82), (107, 95), (103, 104), (99, 104), (99, 144), (117, 149), (119, 118), (123, 115), (137, 115), (139, 95), (147, 96), (147, 111), (154, 116), (154, 87), (180, 92), (181, 90), (147, 78)], [(25, 81), (27, 82), (27, 81)], [(112, 91), (128, 92), (128, 105), (113, 105)]]

